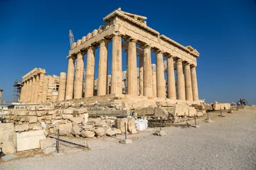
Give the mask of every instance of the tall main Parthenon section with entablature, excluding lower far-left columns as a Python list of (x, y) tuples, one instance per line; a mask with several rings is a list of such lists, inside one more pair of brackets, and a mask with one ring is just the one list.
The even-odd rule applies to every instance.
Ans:
[[(99, 29), (82, 37), (82, 40), (75, 42), (69, 52), (65, 100), (93, 96), (95, 62), (99, 62), (97, 96), (122, 94), (123, 48), (127, 52), (127, 95), (154, 97), (151, 68), (151, 51), (153, 51), (156, 54), (156, 97), (166, 98), (167, 96), (174, 100), (198, 101), (196, 58), (199, 53), (197, 50), (191, 46), (184, 47), (165, 35), (160, 35), (156, 30), (146, 26), (146, 17), (121, 11), (120, 8), (107, 15), (103, 20), (106, 22), (105, 26), (100, 26)], [(111, 82), (110, 91), (107, 93), (107, 54), (108, 43), (111, 41)], [(95, 61), (97, 47), (100, 47), (99, 61)], [(139, 82), (137, 80), (137, 57), (139, 57)], [(166, 57), (168, 65), (167, 95), (164, 57)], [(87, 64), (85, 94), (83, 94), (82, 80), (85, 58)], [(77, 62), (76, 69), (75, 60)], [(176, 63), (177, 82), (175, 82), (174, 63)]]

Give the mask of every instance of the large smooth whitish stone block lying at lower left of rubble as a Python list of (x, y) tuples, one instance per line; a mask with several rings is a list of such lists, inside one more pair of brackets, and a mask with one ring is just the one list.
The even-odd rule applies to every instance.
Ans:
[(32, 130), (28, 132), (16, 132), (17, 151), (40, 148), (40, 140), (45, 140), (44, 130)]

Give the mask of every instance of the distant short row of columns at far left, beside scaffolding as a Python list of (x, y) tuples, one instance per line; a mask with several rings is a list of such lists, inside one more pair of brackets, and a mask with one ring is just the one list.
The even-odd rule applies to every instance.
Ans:
[(46, 84), (45, 77), (46, 73), (41, 72), (23, 81), (20, 101), (23, 103), (46, 102), (48, 84)]

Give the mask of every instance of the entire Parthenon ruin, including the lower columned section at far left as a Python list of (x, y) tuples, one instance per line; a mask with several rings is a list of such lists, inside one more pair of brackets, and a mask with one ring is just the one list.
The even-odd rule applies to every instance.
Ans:
[[(160, 35), (146, 26), (145, 20), (146, 17), (121, 8), (113, 11), (103, 18), (105, 26), (73, 43), (67, 57), (67, 77), (65, 72), (60, 73), (56, 94), (44, 81), (46, 70), (33, 69), (23, 77), (20, 101), (44, 103), (125, 94), (134, 98), (198, 102), (198, 51)], [(97, 48), (99, 57), (95, 55)], [(156, 64), (151, 62), (151, 52), (156, 56)]]

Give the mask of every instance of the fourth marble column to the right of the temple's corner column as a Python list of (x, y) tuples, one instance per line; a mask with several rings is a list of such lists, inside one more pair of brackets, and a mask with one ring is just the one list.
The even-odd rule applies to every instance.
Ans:
[(168, 98), (176, 100), (175, 73), (174, 73), (174, 57), (167, 58), (167, 84)]

